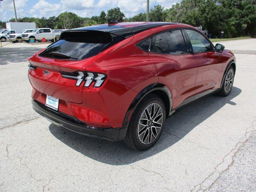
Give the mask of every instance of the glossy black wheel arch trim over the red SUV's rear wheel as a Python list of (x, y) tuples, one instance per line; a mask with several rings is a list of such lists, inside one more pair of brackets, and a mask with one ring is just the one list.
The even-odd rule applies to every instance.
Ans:
[(166, 118), (168, 118), (168, 116), (170, 114), (170, 111), (172, 110), (172, 95), (171, 95), (171, 92), (167, 88), (167, 86), (165, 86), (164, 84), (154, 83), (154, 84), (151, 84), (151, 85), (145, 87), (134, 98), (134, 100), (130, 104), (130, 106), (129, 106), (127, 112), (126, 112), (126, 115), (124, 117), (124, 121), (123, 121), (123, 125), (122, 125), (123, 127), (128, 128), (130, 118), (132, 117), (132, 114), (134, 113), (134, 110), (136, 109), (136, 107), (138, 106), (140, 101), (148, 94), (155, 94), (163, 100), (164, 105), (166, 107)]

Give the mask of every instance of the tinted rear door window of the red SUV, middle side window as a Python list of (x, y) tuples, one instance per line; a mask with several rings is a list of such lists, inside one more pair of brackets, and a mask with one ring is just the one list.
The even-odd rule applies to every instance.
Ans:
[(180, 30), (172, 30), (156, 35), (152, 39), (150, 52), (165, 54), (187, 53), (184, 38)]

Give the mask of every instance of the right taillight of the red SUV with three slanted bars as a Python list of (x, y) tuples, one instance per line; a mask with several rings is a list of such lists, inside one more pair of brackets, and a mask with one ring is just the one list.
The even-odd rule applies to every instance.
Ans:
[(106, 80), (106, 75), (102, 73), (82, 72), (82, 71), (76, 71), (73, 73), (67, 73), (67, 72), (60, 72), (60, 73), (64, 78), (75, 79), (76, 80), (75, 86), (80, 86), (81, 83), (84, 81), (84, 87), (89, 87), (92, 84), (92, 82), (95, 82), (93, 87), (100, 87)]

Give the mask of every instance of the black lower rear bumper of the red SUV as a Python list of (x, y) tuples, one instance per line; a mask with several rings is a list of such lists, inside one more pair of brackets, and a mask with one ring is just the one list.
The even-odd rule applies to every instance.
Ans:
[(32, 106), (36, 112), (45, 117), (47, 120), (56, 124), (58, 126), (62, 126), (74, 132), (84, 134), (86, 136), (106, 139), (110, 141), (118, 141), (123, 140), (126, 136), (127, 128), (96, 128), (87, 126), (85, 123), (79, 121), (78, 119), (54, 111), (44, 104), (32, 100)]

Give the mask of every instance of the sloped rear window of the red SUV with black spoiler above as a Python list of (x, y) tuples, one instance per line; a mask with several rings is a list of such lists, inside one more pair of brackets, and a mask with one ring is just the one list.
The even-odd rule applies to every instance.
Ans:
[(48, 58), (82, 60), (99, 54), (110, 46), (112, 41), (111, 34), (107, 32), (63, 32), (60, 40), (48, 46), (39, 55)]

